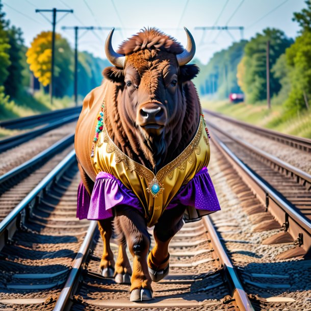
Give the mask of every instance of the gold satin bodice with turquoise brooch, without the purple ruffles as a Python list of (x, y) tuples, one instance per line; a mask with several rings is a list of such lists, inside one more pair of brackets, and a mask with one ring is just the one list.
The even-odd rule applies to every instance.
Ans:
[(128, 158), (114, 144), (104, 124), (94, 144), (91, 161), (96, 174), (101, 171), (112, 174), (136, 194), (150, 227), (158, 222), (180, 187), (189, 183), (196, 173), (208, 166), (209, 138), (201, 116), (197, 132), (190, 144), (154, 175), (145, 166)]

